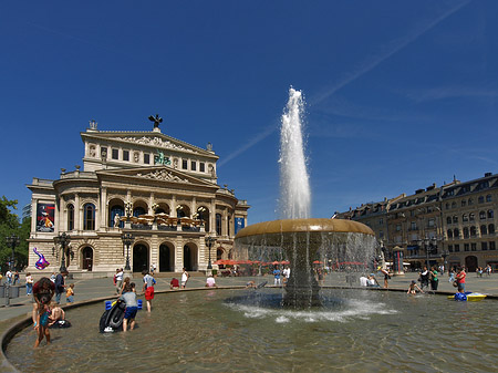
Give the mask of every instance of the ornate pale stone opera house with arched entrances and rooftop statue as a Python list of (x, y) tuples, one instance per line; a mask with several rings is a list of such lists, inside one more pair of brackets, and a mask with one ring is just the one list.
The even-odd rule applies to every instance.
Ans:
[[(81, 133), (83, 169), (28, 185), (27, 270), (35, 271), (40, 255), (50, 262), (44, 272), (58, 271), (64, 253), (69, 271), (82, 276), (108, 274), (126, 261), (134, 272), (152, 265), (159, 272), (203, 271), (209, 259), (230, 258), (247, 225), (247, 201), (218, 185), (210, 144), (173, 138), (160, 132), (162, 118), (149, 120), (153, 131), (137, 132), (98, 131), (91, 121)], [(62, 242), (64, 235), (70, 241)], [(210, 248), (206, 237), (215, 238)]]

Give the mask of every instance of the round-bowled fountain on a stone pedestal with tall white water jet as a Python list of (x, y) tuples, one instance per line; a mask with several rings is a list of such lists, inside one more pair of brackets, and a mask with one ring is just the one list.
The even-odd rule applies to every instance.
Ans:
[[(289, 90), (280, 134), (280, 220), (248, 226), (236, 236), (236, 253), (259, 261), (284, 256), (291, 266), (283, 305), (320, 305), (313, 261), (365, 263), (375, 237), (367, 226), (341, 219), (310, 218), (311, 193), (302, 136), (303, 100)], [(283, 251), (283, 252), (282, 252)], [(322, 259), (322, 260), (320, 260)]]

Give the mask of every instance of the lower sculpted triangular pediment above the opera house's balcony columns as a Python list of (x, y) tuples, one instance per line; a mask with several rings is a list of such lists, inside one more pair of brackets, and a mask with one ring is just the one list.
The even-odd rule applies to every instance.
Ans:
[(98, 176), (112, 176), (123, 178), (138, 178), (143, 180), (155, 180), (166, 183), (180, 183), (190, 185), (200, 185), (218, 188), (216, 184), (205, 182), (200, 178), (187, 175), (177, 169), (167, 166), (139, 167), (127, 169), (101, 169), (96, 172)]

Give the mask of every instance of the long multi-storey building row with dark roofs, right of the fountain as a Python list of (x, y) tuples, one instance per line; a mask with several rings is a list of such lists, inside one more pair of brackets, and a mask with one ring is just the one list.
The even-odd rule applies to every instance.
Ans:
[(445, 265), (476, 271), (488, 265), (498, 269), (497, 209), (498, 175), (488, 173), (364, 204), (338, 217), (371, 227), (387, 261), (401, 250), (411, 269)]

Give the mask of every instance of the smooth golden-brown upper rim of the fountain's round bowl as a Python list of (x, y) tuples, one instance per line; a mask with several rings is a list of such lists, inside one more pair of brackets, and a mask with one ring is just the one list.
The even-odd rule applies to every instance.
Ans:
[(280, 219), (252, 224), (239, 230), (235, 239), (276, 235), (282, 232), (353, 232), (375, 236), (375, 232), (366, 225), (346, 219), (308, 218), (308, 219)]

